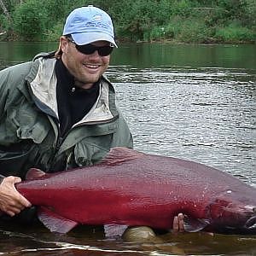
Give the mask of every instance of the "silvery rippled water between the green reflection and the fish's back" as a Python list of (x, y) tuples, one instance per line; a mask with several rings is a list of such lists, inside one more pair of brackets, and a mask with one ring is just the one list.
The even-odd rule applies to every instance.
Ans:
[(111, 67), (119, 108), (146, 153), (196, 160), (256, 183), (256, 74)]

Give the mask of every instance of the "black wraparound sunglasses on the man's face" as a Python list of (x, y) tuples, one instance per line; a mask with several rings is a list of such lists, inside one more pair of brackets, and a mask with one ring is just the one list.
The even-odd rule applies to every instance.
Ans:
[(67, 38), (67, 40), (75, 44), (76, 49), (84, 55), (92, 55), (97, 50), (98, 54), (103, 57), (110, 55), (113, 51), (113, 44), (106, 46), (95, 46), (93, 44), (79, 45), (76, 44), (72, 38)]

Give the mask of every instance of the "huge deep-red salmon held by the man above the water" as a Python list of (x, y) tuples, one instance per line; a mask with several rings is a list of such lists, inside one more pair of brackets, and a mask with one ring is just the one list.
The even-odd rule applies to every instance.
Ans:
[(256, 189), (189, 160), (113, 148), (96, 166), (39, 175), (32, 169), (16, 188), (51, 231), (77, 224), (169, 230), (183, 212), (188, 231), (256, 234)]

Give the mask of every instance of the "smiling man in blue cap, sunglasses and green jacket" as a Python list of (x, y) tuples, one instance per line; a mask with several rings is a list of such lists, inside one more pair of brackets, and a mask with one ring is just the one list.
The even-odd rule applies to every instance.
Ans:
[[(131, 131), (103, 76), (117, 48), (110, 16), (93, 6), (68, 15), (55, 53), (0, 72), (0, 210), (31, 203), (15, 189), (31, 167), (90, 166), (110, 148), (132, 148)], [(177, 222), (176, 222), (177, 224)]]

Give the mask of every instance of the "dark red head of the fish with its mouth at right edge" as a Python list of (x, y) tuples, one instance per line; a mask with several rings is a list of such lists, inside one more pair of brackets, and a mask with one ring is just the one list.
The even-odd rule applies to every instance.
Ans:
[(217, 199), (210, 206), (212, 228), (222, 234), (256, 234), (256, 205)]

